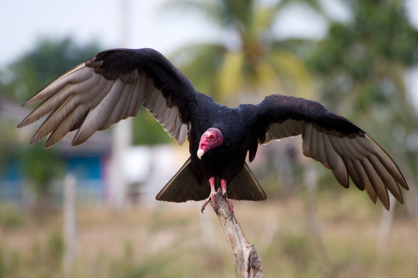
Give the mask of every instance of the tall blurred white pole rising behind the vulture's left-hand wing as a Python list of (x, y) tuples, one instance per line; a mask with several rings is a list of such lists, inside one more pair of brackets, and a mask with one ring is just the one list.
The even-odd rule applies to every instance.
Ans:
[[(129, 37), (129, 5), (130, 0), (120, 0), (121, 6), (121, 37), (120, 47), (126, 48)], [(126, 203), (128, 183), (123, 168), (124, 153), (132, 143), (132, 118), (127, 118), (113, 127), (113, 178), (112, 195), (116, 208), (122, 209)]]

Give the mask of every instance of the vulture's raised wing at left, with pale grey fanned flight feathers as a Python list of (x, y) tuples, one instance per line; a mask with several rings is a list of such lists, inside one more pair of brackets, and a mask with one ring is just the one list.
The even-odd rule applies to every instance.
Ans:
[(138, 115), (141, 106), (152, 113), (178, 145), (190, 128), (190, 103), (196, 89), (189, 79), (156, 50), (113, 49), (72, 68), (42, 88), (22, 106), (38, 105), (18, 128), (46, 118), (31, 140), (50, 134), (45, 148), (78, 129), (72, 145)]

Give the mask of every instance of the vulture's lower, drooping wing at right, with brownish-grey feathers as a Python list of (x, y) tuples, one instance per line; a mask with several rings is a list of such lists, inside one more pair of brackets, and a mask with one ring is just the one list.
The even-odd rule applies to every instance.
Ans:
[(398, 183), (408, 185), (392, 158), (367, 133), (346, 118), (329, 112), (320, 103), (287, 95), (270, 95), (257, 105), (257, 141), (302, 135), (303, 155), (330, 169), (337, 181), (349, 187), (349, 177), (377, 198), (388, 210), (390, 193), (403, 203)]

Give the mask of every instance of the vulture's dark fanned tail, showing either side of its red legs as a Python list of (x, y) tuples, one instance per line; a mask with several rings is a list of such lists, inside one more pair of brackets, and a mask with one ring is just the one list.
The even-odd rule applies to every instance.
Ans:
[[(176, 175), (161, 189), (155, 197), (156, 200), (183, 203), (188, 200), (200, 201), (209, 197), (209, 182), (200, 184), (191, 171), (191, 158), (178, 170)], [(219, 178), (215, 180), (218, 189)], [(227, 185), (228, 197), (233, 200), (262, 201), (267, 199), (263, 188), (255, 179), (247, 163), (241, 172)]]

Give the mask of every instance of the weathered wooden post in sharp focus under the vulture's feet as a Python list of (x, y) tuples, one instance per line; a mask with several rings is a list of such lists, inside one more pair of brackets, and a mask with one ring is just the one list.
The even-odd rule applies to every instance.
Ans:
[(254, 245), (248, 242), (242, 232), (241, 225), (238, 223), (235, 215), (231, 219), (228, 202), (220, 193), (220, 189), (218, 189), (215, 194), (215, 203), (218, 209), (219, 223), (221, 223), (224, 228), (229, 247), (234, 256), (234, 263), (237, 265), (238, 276), (240, 278), (263, 277), (260, 257), (258, 256)]

